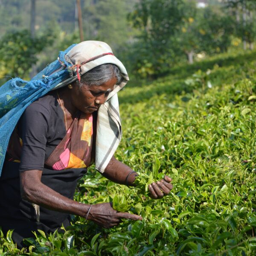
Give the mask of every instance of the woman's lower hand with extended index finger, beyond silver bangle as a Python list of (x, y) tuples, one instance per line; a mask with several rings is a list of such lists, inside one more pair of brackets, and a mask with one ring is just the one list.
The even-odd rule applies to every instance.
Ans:
[(113, 209), (112, 203), (93, 204), (87, 219), (95, 222), (104, 228), (117, 226), (121, 222), (121, 218), (131, 220), (142, 220), (142, 217), (129, 212), (117, 212)]

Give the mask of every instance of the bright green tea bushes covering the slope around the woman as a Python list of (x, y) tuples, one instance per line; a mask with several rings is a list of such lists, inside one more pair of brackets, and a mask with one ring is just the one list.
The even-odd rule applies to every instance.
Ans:
[[(219, 55), (119, 93), (116, 157), (140, 172), (139, 185), (117, 186), (92, 167), (75, 197), (113, 201), (143, 221), (107, 230), (73, 216), (64, 233), (26, 239), (27, 251), (1, 234), (0, 255), (255, 255), (255, 57)], [(156, 201), (145, 184), (163, 174), (174, 188)]]

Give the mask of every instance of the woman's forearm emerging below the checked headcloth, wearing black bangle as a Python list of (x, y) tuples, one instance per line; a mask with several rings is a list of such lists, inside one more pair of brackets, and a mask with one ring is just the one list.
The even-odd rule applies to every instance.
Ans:
[[(136, 172), (131, 173), (131, 172), (133, 172), (133, 170), (129, 166), (116, 160), (115, 157), (112, 157), (110, 162), (108, 163), (108, 166), (105, 169), (105, 172), (103, 172), (102, 175), (106, 177), (108, 180), (111, 180), (115, 183), (128, 185), (128, 186), (135, 186), (133, 182), (135, 180), (135, 177), (137, 176), (137, 173)], [(130, 173), (131, 175), (129, 175)], [(126, 177), (128, 175), (129, 177), (126, 180)]]

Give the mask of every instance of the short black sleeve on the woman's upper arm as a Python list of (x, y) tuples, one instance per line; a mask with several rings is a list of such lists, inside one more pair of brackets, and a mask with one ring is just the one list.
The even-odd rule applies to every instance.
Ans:
[(50, 113), (36, 102), (29, 105), (19, 121), (22, 151), (20, 171), (43, 170)]

